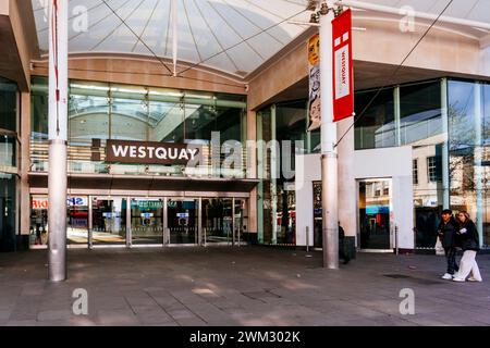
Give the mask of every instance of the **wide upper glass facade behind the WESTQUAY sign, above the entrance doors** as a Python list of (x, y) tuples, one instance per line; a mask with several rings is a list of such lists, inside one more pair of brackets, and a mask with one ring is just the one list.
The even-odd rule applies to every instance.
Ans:
[[(46, 78), (35, 77), (32, 92), (32, 161), (35, 172), (46, 172), (48, 165), (47, 94)], [(69, 172), (245, 177), (244, 165), (228, 170), (232, 173), (224, 172), (225, 169), (217, 171), (210, 165), (210, 153), (222, 153), (224, 142), (245, 141), (245, 96), (73, 80), (70, 83)], [(205, 159), (196, 169), (108, 165), (105, 162), (108, 139), (197, 142), (204, 146)], [(242, 158), (245, 156), (242, 153)]]

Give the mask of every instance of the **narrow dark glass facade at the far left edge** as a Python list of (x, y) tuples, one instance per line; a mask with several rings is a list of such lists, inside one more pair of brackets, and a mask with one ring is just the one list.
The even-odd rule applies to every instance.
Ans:
[(0, 77), (0, 252), (16, 249), (17, 86)]

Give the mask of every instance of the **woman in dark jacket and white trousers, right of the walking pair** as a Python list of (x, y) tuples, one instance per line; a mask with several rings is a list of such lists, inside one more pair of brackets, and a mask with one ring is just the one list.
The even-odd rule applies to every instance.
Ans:
[(463, 249), (463, 258), (460, 263), (460, 271), (454, 275), (454, 282), (466, 282), (469, 276), (469, 282), (482, 282), (476, 256), (480, 250), (480, 237), (475, 223), (469, 219), (466, 211), (457, 214), (460, 228), (457, 229), (457, 237), (460, 246)]

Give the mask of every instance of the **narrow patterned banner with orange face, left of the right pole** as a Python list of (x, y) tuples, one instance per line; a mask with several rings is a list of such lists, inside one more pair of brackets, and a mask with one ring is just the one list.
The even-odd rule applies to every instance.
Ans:
[(320, 36), (317, 34), (308, 40), (309, 62), (309, 120), (308, 132), (321, 127), (320, 110)]

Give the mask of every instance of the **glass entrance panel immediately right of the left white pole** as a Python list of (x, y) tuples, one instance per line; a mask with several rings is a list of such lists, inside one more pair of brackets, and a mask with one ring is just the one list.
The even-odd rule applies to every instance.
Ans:
[(88, 244), (88, 197), (69, 197), (68, 244)]

